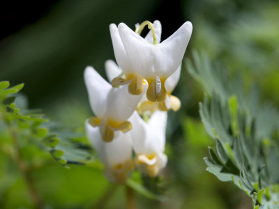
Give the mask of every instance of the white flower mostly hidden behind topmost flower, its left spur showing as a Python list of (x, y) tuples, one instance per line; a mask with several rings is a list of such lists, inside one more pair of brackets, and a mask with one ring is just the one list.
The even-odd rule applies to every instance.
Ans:
[[(137, 30), (140, 26), (136, 25)], [(160, 42), (160, 36), (161, 36), (161, 24), (158, 20), (154, 21), (153, 23), (153, 31), (154, 36), (158, 42)], [(119, 29), (115, 24), (110, 24), (110, 35), (112, 37), (112, 45), (114, 48), (114, 56), (116, 58), (116, 62), (118, 63), (119, 67), (123, 70), (123, 74), (125, 75), (125, 78), (123, 77), (115, 77), (115, 79), (112, 80), (112, 86), (120, 86), (128, 84), (128, 91), (133, 95), (138, 95), (142, 93), (142, 82), (143, 79), (140, 75), (137, 74), (137, 72), (133, 69), (133, 65), (131, 65), (126, 49), (123, 46), (122, 40), (119, 35)], [(149, 31), (145, 37), (146, 42), (150, 42), (150, 44), (153, 43), (153, 33)]]

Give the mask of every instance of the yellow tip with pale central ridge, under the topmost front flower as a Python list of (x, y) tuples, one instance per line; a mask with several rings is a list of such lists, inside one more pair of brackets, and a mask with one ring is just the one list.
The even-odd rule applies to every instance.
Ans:
[(167, 91), (165, 89), (165, 78), (146, 79), (149, 87), (146, 91), (146, 98), (151, 102), (163, 102), (167, 98)]

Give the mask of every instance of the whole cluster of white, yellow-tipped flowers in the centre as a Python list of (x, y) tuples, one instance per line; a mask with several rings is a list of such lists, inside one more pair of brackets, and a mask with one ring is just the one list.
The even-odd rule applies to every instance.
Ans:
[[(142, 38), (146, 25), (150, 31)], [(167, 111), (177, 111), (181, 105), (172, 91), (179, 81), (192, 24), (184, 23), (163, 42), (161, 31), (158, 20), (136, 24), (135, 31), (123, 23), (110, 24), (118, 64), (111, 60), (105, 63), (111, 84), (92, 67), (84, 71), (95, 114), (86, 120), (86, 134), (112, 182), (125, 183), (135, 167), (146, 175), (158, 176), (167, 164)]]

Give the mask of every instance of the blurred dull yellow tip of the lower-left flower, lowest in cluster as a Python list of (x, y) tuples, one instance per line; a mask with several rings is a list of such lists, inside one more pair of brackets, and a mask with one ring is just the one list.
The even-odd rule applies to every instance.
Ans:
[(113, 175), (116, 180), (116, 183), (119, 185), (124, 185), (128, 178), (128, 171), (134, 169), (133, 160), (128, 160), (124, 163), (115, 164), (113, 167)]

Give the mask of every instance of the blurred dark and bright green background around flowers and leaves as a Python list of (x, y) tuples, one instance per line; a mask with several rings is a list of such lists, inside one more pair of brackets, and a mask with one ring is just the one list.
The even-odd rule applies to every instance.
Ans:
[[(86, 65), (105, 77), (104, 63), (114, 59), (109, 24), (160, 20), (162, 40), (183, 22), (193, 23), (186, 51), (206, 52), (232, 75), (241, 74), (246, 87), (257, 84), (262, 98), (279, 104), (278, 1), (45, 1), (1, 6), (0, 81), (24, 82), (31, 109), (82, 132), (92, 113), (83, 81)], [(221, 183), (205, 171), (202, 158), (213, 141), (199, 120), (203, 91), (184, 66), (174, 91), (179, 112), (169, 112), (169, 157), (161, 183), (164, 203), (137, 194), (138, 208), (252, 208), (250, 199), (232, 183)], [(48, 153), (32, 159), (32, 178), (46, 208), (124, 208), (118, 187), (110, 187), (100, 166), (61, 167)], [(98, 205), (99, 204), (99, 205)], [(32, 208), (24, 180), (11, 160), (0, 153), (0, 208)]]

